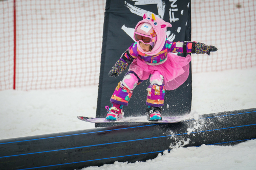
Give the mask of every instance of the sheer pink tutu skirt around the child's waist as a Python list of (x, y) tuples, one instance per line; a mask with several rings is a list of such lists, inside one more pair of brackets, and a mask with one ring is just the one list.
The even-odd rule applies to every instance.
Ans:
[(165, 89), (174, 90), (187, 80), (190, 61), (190, 55), (180, 57), (172, 53), (168, 53), (166, 61), (159, 65), (148, 65), (145, 61), (136, 58), (130, 65), (129, 71), (134, 71), (141, 80), (146, 80), (157, 70), (164, 77)]

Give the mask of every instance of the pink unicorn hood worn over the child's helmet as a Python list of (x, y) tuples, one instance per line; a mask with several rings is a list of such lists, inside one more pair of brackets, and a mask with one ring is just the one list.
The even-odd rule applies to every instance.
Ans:
[(156, 17), (153, 13), (151, 14), (151, 17), (148, 17), (147, 14), (145, 13), (143, 15), (143, 20), (137, 23), (135, 27), (135, 31), (137, 30), (140, 23), (143, 23), (143, 22), (150, 23), (152, 28), (155, 30), (157, 34), (157, 42), (154, 48), (152, 49), (152, 51), (146, 52), (146, 53), (143, 52), (140, 45), (138, 44), (139, 51), (149, 56), (156, 55), (162, 50), (164, 43), (166, 41), (166, 28), (172, 27), (172, 25), (169, 22), (165, 22), (163, 19)]

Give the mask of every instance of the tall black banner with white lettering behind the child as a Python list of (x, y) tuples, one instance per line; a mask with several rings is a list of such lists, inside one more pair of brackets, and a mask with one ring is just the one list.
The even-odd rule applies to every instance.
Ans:
[[(109, 77), (109, 71), (119, 60), (121, 54), (134, 43), (133, 32), (137, 23), (143, 19), (143, 14), (151, 15), (170, 22), (172, 28), (167, 28), (169, 41), (190, 41), (191, 20), (190, 0), (107, 0), (103, 27), (103, 41), (100, 67), (100, 80), (98, 90), (98, 103), (96, 117), (105, 117), (105, 106), (111, 106), (110, 98), (118, 82), (122, 80), (128, 69), (118, 77)], [(179, 56), (185, 57), (187, 54)], [(192, 99), (191, 86), (191, 63), (190, 74), (187, 81), (179, 88), (166, 91), (163, 116), (184, 115), (190, 112)], [(134, 89), (133, 96), (128, 106), (124, 106), (124, 116), (146, 115), (146, 96), (149, 81), (144, 81)], [(106, 126), (96, 124), (96, 127)]]

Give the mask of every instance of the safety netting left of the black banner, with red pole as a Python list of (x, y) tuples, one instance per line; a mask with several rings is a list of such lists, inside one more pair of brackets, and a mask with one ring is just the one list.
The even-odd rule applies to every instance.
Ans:
[[(5, 46), (0, 90), (4, 90), (13, 87), (14, 3), (0, 3), (5, 31), (0, 33), (0, 46)], [(105, 1), (100, 0), (16, 1), (16, 89), (97, 84), (104, 9)]]

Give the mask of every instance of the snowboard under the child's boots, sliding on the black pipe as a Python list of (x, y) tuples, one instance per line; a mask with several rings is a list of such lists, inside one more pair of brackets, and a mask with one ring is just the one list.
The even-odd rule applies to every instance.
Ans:
[(95, 118), (95, 117), (83, 117), (77, 116), (78, 119), (85, 122), (91, 123), (151, 123), (151, 124), (163, 124), (163, 123), (178, 123), (190, 118), (190, 114), (184, 116), (172, 116), (172, 117), (162, 117), (162, 120), (158, 121), (148, 121), (147, 116), (141, 117), (124, 117), (120, 120), (106, 120), (105, 118)]

